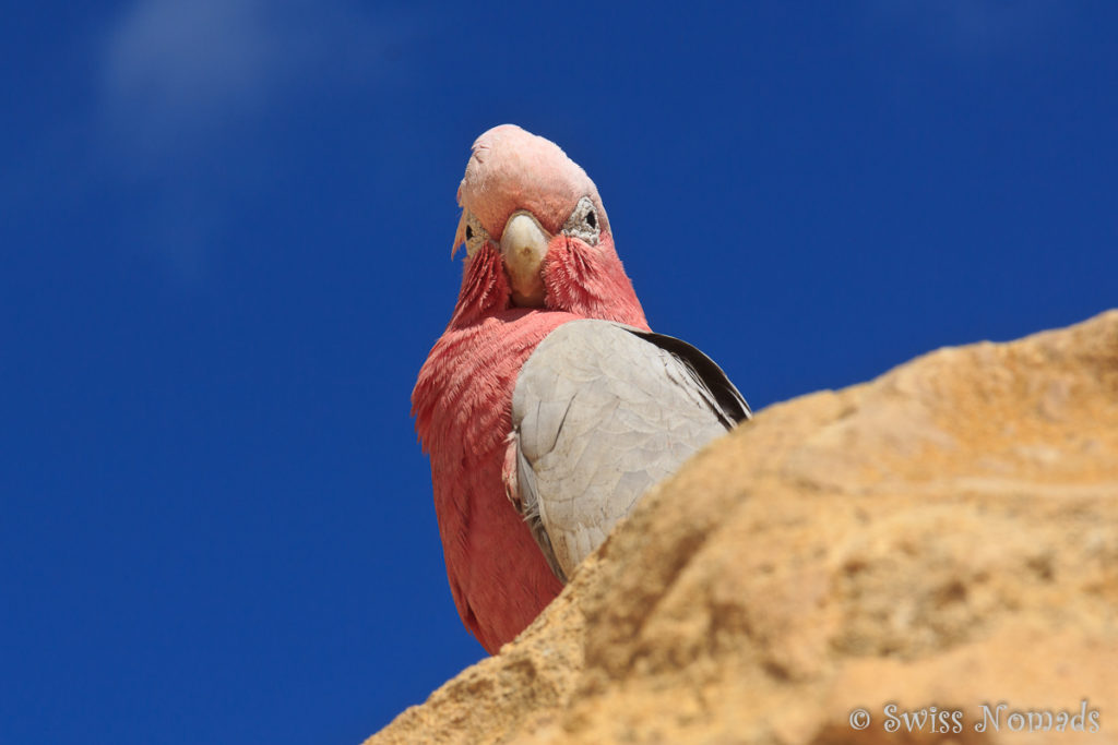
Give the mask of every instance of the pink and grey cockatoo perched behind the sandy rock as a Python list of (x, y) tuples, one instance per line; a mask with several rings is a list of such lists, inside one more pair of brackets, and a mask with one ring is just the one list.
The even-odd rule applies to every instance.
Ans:
[(490, 130), (458, 204), (462, 289), (411, 405), (451, 591), (493, 653), (750, 411), (710, 359), (651, 332), (597, 188), (555, 143)]

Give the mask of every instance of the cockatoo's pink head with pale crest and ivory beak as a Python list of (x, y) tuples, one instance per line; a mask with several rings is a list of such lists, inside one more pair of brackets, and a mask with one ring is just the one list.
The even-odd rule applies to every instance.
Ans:
[(458, 204), (454, 250), (465, 245), (466, 259), (456, 322), (523, 307), (645, 326), (597, 188), (550, 140), (513, 124), (485, 132)]

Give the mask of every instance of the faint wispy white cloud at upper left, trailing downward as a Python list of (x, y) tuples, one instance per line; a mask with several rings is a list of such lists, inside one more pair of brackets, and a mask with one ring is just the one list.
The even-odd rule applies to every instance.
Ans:
[(95, 168), (140, 187), (126, 233), (184, 283), (207, 275), (236, 195), (267, 178), (273, 155), (254, 145), (272, 117), (390, 79), (406, 21), (359, 1), (133, 0), (101, 38)]

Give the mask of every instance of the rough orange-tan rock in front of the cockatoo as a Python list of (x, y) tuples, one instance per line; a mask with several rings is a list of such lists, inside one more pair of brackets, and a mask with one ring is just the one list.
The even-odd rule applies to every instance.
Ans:
[(368, 744), (1064, 741), (1118, 742), (1118, 311), (766, 409)]

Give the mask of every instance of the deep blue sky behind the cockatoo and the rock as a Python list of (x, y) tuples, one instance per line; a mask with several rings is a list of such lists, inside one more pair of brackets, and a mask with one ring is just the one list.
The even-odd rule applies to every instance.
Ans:
[(483, 657), (408, 397), (492, 125), (755, 409), (1118, 305), (1112, 2), (4, 16), (0, 742), (358, 743)]

